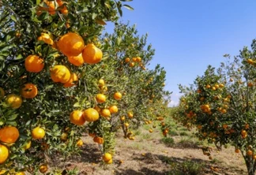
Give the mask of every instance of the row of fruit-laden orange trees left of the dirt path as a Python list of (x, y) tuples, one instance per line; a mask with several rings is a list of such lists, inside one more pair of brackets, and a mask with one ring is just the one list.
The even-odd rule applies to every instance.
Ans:
[(111, 164), (115, 132), (134, 140), (167, 116), (165, 71), (147, 69), (147, 35), (119, 24), (125, 2), (0, 2), (0, 174), (47, 173), (51, 156), (79, 153), (82, 136)]

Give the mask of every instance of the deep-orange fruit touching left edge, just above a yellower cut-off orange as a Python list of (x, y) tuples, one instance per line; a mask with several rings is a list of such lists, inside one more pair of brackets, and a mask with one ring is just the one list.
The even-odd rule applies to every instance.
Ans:
[(0, 141), (4, 143), (15, 143), (20, 136), (19, 130), (14, 126), (0, 128)]

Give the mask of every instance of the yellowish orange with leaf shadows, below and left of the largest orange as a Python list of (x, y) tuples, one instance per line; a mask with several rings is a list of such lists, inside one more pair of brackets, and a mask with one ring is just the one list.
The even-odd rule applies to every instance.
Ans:
[(55, 65), (51, 69), (51, 80), (66, 84), (70, 80), (70, 70), (65, 65)]

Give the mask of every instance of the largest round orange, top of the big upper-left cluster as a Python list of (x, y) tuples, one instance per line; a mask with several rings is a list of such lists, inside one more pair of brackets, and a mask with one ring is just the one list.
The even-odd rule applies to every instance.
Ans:
[(74, 32), (68, 32), (58, 39), (57, 46), (58, 50), (70, 57), (81, 54), (82, 50), (84, 50), (85, 43), (81, 35)]

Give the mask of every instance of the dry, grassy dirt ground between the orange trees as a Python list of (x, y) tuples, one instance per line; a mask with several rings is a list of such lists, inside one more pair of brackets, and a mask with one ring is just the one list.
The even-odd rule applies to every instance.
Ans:
[[(173, 138), (179, 140), (179, 137)], [(222, 151), (217, 151), (213, 147), (211, 152), (213, 159), (209, 160), (199, 147), (193, 145), (168, 147), (161, 138), (160, 131), (157, 130), (149, 133), (144, 129), (135, 140), (125, 140), (119, 133), (114, 162), (111, 165), (104, 165), (100, 147), (93, 143), (90, 136), (85, 136), (81, 157), (73, 156), (66, 162), (60, 160), (59, 166), (66, 169), (76, 168), (81, 175), (164, 175), (176, 174), (172, 169), (182, 165), (183, 162), (198, 162), (203, 165), (201, 174), (247, 174), (243, 157), (235, 153), (234, 147), (228, 147)]]

